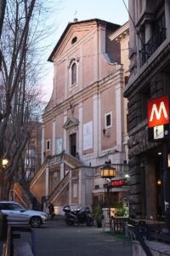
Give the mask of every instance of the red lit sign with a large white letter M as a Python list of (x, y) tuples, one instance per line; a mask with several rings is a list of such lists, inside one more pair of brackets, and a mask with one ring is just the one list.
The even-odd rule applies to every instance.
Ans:
[(148, 127), (169, 123), (168, 96), (162, 96), (148, 102)]

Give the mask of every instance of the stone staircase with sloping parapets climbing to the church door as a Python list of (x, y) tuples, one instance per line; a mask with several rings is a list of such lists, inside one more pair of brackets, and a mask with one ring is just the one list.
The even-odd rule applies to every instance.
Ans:
[[(43, 185), (40, 183), (40, 179), (45, 177), (45, 172), (47, 166), (60, 165), (61, 162), (65, 163), (65, 177), (60, 180), (57, 187), (48, 196), (45, 195), (45, 183)], [(81, 160), (66, 154), (55, 156), (48, 156), (48, 158), (43, 162), (41, 168), (36, 172), (35, 176), (32, 177), (30, 183), (17, 185), (17, 191), (20, 190), (20, 197), (23, 197), (23, 201), (26, 201), (27, 207), (31, 207), (34, 210), (44, 210), (43, 202), (45, 201), (46, 207), (49, 202), (56, 202), (57, 206), (63, 206), (64, 203), (69, 201), (69, 182), (70, 182), (70, 172), (72, 177), (77, 177), (79, 169), (83, 166)], [(36, 187), (36, 188), (35, 188)], [(33, 188), (33, 189), (32, 189)], [(42, 190), (42, 194), (38, 195), (38, 191)], [(22, 191), (22, 192), (21, 192)]]

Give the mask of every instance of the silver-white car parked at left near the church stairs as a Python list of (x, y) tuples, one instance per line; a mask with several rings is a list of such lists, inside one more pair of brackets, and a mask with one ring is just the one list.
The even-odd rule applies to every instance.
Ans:
[(45, 212), (26, 210), (14, 201), (0, 201), (0, 211), (7, 215), (8, 224), (31, 224), (32, 228), (38, 228), (48, 221)]

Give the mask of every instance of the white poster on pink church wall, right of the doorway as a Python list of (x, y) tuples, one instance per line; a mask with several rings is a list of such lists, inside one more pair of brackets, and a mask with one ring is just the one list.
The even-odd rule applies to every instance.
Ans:
[(83, 125), (83, 150), (93, 148), (93, 121)]

